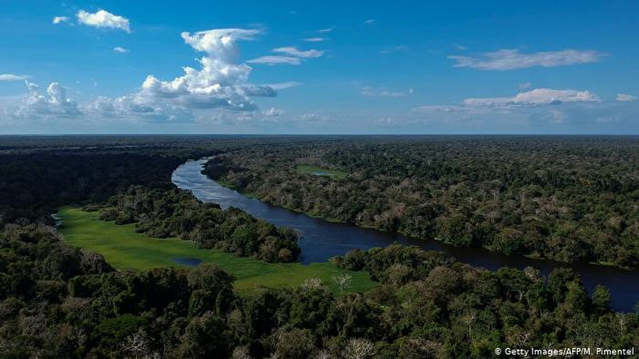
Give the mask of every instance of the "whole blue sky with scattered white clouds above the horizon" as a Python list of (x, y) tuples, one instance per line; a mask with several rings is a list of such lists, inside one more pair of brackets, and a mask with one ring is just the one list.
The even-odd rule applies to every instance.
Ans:
[(0, 1), (0, 133), (639, 133), (636, 1), (300, 3)]

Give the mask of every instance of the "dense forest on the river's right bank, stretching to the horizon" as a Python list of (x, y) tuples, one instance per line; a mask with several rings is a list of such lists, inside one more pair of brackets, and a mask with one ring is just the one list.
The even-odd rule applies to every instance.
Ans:
[(415, 238), (639, 266), (639, 138), (280, 140), (230, 149), (207, 174), (271, 204)]

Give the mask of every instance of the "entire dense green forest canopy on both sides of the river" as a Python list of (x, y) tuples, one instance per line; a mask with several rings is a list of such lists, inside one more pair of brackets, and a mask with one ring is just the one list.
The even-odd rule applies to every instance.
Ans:
[[(316, 278), (301, 286), (238, 292), (233, 275), (212, 264), (114, 270), (102, 255), (70, 246), (48, 226), (55, 207), (78, 205), (101, 211), (114, 223), (136, 223), (148, 241), (180, 236), (265, 261), (286, 261), (283, 249), (295, 258), (297, 236), (287, 228), (202, 204), (170, 183), (180, 162), (214, 155), (209, 171), (216, 177), (272, 202), (281, 198), (280, 205), (326, 211), (325, 216), (424, 231), (419, 236), (439, 228), (450, 228), (442, 233), (453, 236), (461, 228), (474, 245), (491, 246), (474, 241), (488, 218), (481, 216), (495, 211), (481, 233), (528, 236), (530, 228), (545, 225), (547, 236), (531, 242), (540, 248), (552, 245), (547, 243), (552, 236), (574, 236), (571, 226), (584, 222), (589, 231), (606, 234), (602, 238), (614, 253), (623, 248), (632, 254), (637, 246), (633, 138), (3, 140), (1, 358), (486, 358), (507, 346), (639, 346), (639, 312), (612, 311), (606, 287), (588, 294), (578, 273), (565, 268), (547, 277), (530, 267), (489, 271), (442, 253), (391, 245), (333, 260), (376, 280), (378, 287), (368, 292), (332, 292)], [(536, 151), (540, 162), (533, 163), (523, 148)], [(299, 174), (297, 165), (348, 175)], [(534, 175), (540, 168), (547, 172)], [(295, 198), (297, 206), (288, 202)], [(307, 203), (312, 207), (302, 208)], [(346, 208), (353, 203), (361, 207)], [(397, 206), (401, 216), (393, 217), (388, 209)], [(557, 210), (562, 206), (566, 209)], [(529, 218), (535, 209), (548, 211), (543, 221)], [(457, 225), (440, 224), (462, 215)], [(611, 221), (613, 216), (618, 221)], [(616, 231), (607, 227), (613, 224)], [(557, 226), (565, 226), (564, 232), (556, 233)], [(528, 249), (528, 241), (521, 248)], [(595, 240), (575, 236), (573, 241)], [(348, 277), (336, 281), (349, 285)]]

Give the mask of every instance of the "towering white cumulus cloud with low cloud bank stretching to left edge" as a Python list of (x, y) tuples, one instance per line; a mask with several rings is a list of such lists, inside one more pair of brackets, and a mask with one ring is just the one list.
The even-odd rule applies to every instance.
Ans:
[[(258, 111), (253, 96), (276, 96), (275, 89), (297, 86), (299, 82), (251, 84), (251, 67), (239, 61), (239, 40), (251, 40), (261, 33), (238, 28), (182, 33), (182, 39), (194, 50), (204, 53), (197, 59), (199, 68), (183, 67), (184, 74), (170, 80), (150, 74), (140, 89), (115, 98), (99, 96), (94, 101), (77, 104), (67, 98), (58, 83), (46, 92), (27, 82), (28, 94), (16, 106), (7, 107), (9, 120), (74, 116), (82, 121), (119, 119), (118, 121), (198, 121), (224, 113), (224, 118), (274, 118), (282, 110)], [(117, 51), (117, 50), (116, 50)], [(18, 75), (3, 75), (5, 80)], [(213, 111), (214, 110), (214, 111)], [(236, 115), (233, 115), (236, 114)]]

